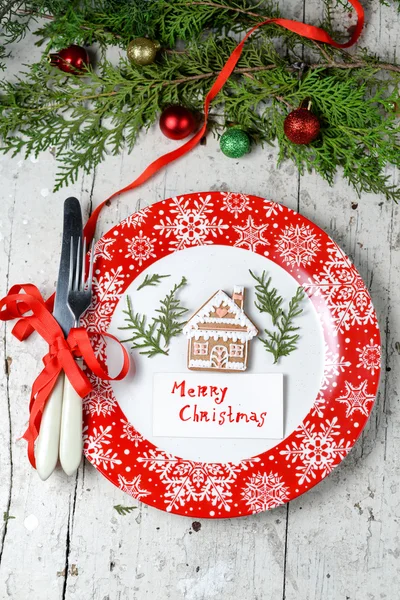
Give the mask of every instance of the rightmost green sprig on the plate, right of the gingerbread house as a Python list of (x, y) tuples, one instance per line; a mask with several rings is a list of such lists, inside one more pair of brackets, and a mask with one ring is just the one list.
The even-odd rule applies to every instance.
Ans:
[(281, 312), (281, 316), (278, 319), (277, 331), (269, 331), (264, 329), (264, 333), (267, 336), (260, 340), (264, 344), (264, 348), (267, 352), (270, 352), (274, 357), (274, 364), (283, 356), (288, 356), (296, 350), (297, 342), (299, 340), (299, 334), (295, 333), (299, 330), (299, 327), (294, 326), (294, 320), (298, 317), (303, 309), (300, 308), (301, 301), (304, 298), (303, 288), (298, 288), (296, 294), (289, 302), (289, 309), (287, 312), (284, 310)]

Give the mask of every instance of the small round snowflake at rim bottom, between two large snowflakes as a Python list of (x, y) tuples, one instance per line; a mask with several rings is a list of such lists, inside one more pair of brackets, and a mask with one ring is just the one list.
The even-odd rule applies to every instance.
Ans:
[(289, 489), (276, 473), (257, 473), (248, 478), (241, 494), (253, 513), (280, 506), (288, 499)]

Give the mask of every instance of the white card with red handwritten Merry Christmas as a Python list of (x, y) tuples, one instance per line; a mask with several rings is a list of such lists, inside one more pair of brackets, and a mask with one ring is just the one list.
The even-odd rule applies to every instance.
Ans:
[(282, 373), (156, 373), (153, 435), (283, 438)]

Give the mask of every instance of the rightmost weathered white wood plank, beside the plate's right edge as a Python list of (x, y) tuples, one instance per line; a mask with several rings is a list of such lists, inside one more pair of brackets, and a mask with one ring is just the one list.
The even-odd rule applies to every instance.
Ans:
[[(306, 18), (315, 18), (316, 4), (307, 2)], [(363, 44), (393, 59), (394, 38), (398, 47), (397, 29), (391, 26), (397, 18), (394, 7), (371, 2), (366, 10)], [(395, 300), (399, 211), (384, 198), (357, 198), (340, 178), (328, 188), (309, 175), (301, 179), (300, 211), (344, 248), (368, 285), (381, 327), (384, 369), (372, 417), (350, 456), (317, 488), (290, 504), (287, 566), (295, 573), (300, 597), (309, 600), (391, 598), (400, 582), (399, 469), (394, 460), (400, 418), (399, 356), (394, 349), (400, 328)], [(285, 599), (295, 598), (298, 591), (287, 582)]]

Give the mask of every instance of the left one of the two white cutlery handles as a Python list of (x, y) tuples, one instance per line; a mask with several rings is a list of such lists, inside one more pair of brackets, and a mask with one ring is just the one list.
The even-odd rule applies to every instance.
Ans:
[(44, 407), (35, 447), (36, 470), (43, 481), (50, 477), (58, 461), (63, 391), (64, 373), (60, 373)]

